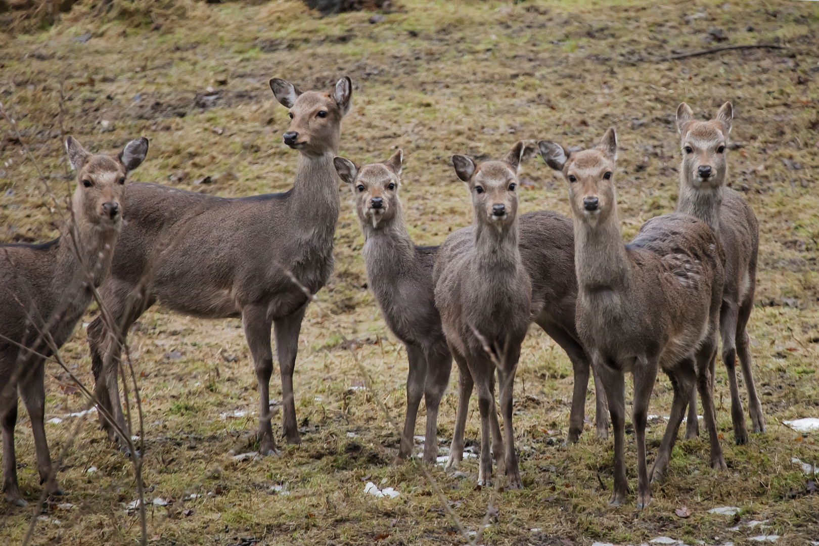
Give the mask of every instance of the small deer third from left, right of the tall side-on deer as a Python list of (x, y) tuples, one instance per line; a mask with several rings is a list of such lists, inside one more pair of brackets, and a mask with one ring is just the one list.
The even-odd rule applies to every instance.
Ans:
[(441, 331), (432, 284), (438, 247), (415, 246), (404, 222), (398, 197), (402, 159), (399, 150), (384, 163), (360, 169), (342, 157), (334, 162), (338, 175), (355, 195), (369, 287), (387, 326), (406, 346), (409, 359), (407, 413), (396, 462), (412, 453), (415, 418), (423, 397), (427, 404), (423, 462), (435, 463), (438, 406), (449, 385), (452, 356)]

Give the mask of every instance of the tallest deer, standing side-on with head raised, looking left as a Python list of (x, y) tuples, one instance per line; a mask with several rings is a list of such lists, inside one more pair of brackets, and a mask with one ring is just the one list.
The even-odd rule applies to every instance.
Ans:
[[(333, 272), (340, 204), (333, 156), (342, 118), (350, 111), (352, 84), (345, 77), (329, 93), (301, 93), (292, 83), (271, 79), (270, 88), (290, 111), (284, 143), (299, 151), (292, 189), (225, 199), (132, 184), (125, 201), (127, 225), (111, 278), (100, 290), (117, 323), (124, 323), (123, 332), (157, 301), (202, 318), (241, 317), (259, 381), (258, 436), (265, 455), (276, 451), (269, 405), (271, 324), (282, 376), (284, 435), (291, 444), (300, 441), (293, 367), (308, 299), (287, 273), (315, 293)], [(152, 249), (169, 241), (174, 241), (173, 251), (152, 263)], [(104, 369), (105, 362), (110, 367), (118, 362), (119, 344), (105, 335), (98, 318), (88, 327), (88, 341), (97, 396), (124, 426), (116, 374)]]

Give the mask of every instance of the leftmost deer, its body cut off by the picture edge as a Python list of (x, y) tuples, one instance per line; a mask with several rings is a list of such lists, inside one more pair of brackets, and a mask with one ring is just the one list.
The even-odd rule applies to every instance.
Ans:
[(129, 142), (119, 156), (94, 156), (71, 137), (66, 148), (77, 171), (77, 189), (62, 236), (38, 245), (0, 246), (2, 487), (17, 506), (26, 504), (14, 452), (17, 392), (31, 419), (40, 483), (49, 494), (62, 494), (52, 476), (43, 428), (45, 360), (37, 354), (51, 356), (53, 345), (66, 342), (93, 299), (89, 281), (98, 287), (110, 272), (125, 178), (145, 159), (148, 141)]

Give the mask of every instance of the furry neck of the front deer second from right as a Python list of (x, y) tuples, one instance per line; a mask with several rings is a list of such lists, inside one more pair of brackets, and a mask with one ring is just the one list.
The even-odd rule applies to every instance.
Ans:
[(575, 214), (574, 262), (581, 291), (623, 290), (629, 286), (631, 268), (617, 210), (609, 219), (595, 224)]

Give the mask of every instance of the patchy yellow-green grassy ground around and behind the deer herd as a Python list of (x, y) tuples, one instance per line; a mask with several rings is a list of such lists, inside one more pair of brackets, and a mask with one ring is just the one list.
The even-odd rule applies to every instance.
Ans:
[[(0, 34), (0, 101), (57, 187), (65, 183), (62, 123), (95, 151), (114, 150), (139, 135), (150, 138), (148, 160), (135, 180), (247, 196), (286, 190), (296, 165), (296, 152), (281, 142), (286, 111), (274, 101), (268, 79), (328, 88), (349, 74), (354, 106), (342, 153), (357, 162), (382, 160), (402, 147), (400, 191), (409, 231), (419, 244), (437, 244), (471, 221), (468, 196), (447, 165), (452, 153), (498, 157), (518, 138), (588, 146), (610, 125), (621, 142), (616, 177), (631, 237), (646, 219), (674, 209), (677, 104), (685, 100), (698, 115), (710, 115), (731, 100), (732, 138), (739, 143), (730, 152), (731, 185), (745, 192), (760, 220), (757, 307), (749, 331), (767, 432), (752, 435), (748, 445), (732, 443), (730, 397), (718, 365), (717, 426), (728, 471), (709, 469), (704, 440), (681, 441), (667, 478), (654, 485), (649, 508), (637, 512), (633, 497), (609, 508), (613, 444), (595, 440), (587, 426), (579, 444), (561, 447), (571, 368), (563, 351), (533, 327), (515, 385), (525, 489), (500, 494), (483, 544), (640, 544), (659, 535), (687, 544), (746, 544), (760, 534), (781, 535), (776, 544), (806, 544), (819, 540), (819, 494), (810, 494), (808, 480), (815, 477), (790, 460), (819, 463), (819, 435), (799, 435), (781, 420), (819, 417), (819, 7), (728, 1), (404, 0), (375, 24), (369, 12), (322, 19), (291, 0), (256, 7), (166, 2), (153, 11), (142, 2), (142, 11), (130, 13), (117, 2), (119, 18), (108, 21), (78, 5), (54, 29)], [(789, 48), (654, 61), (713, 47), (704, 41), (713, 27), (724, 29), (722, 45)], [(19, 143), (3, 138), (0, 241), (48, 240), (57, 234), (57, 215)], [(171, 180), (174, 174), (183, 179)], [(206, 175), (214, 182), (193, 184)], [(563, 181), (542, 160), (525, 165), (522, 177), (523, 211), (569, 214)], [(147, 413), (147, 497), (176, 499), (171, 508), (149, 510), (152, 544), (251, 544), (251, 537), (266, 544), (464, 544), (419, 467), (389, 464), (397, 435), (375, 399), (403, 418), (405, 351), (365, 288), (363, 237), (347, 190), (340, 191), (336, 271), (319, 293), (333, 316), (311, 306), (301, 331), (295, 376), (301, 446), (261, 460), (231, 457), (255, 449), (257, 417), (256, 379), (238, 320), (198, 320), (155, 308), (134, 327), (130, 339)], [(346, 336), (380, 341), (359, 350), (375, 390), (351, 389), (361, 379), (340, 345), (337, 322)], [(84, 327), (64, 351), (92, 384)], [(452, 387), (456, 377), (453, 372)], [(64, 394), (61, 381), (59, 369), (49, 367), (47, 418), (84, 404), (79, 395)], [(441, 448), (452, 434), (452, 387), (442, 404)], [(272, 392), (280, 397), (275, 377)], [(667, 415), (670, 404), (670, 384), (658, 377), (650, 412)], [(247, 415), (220, 417), (236, 410)], [(587, 413), (593, 420), (593, 392)], [(472, 415), (468, 439), (477, 440), (478, 426)], [(662, 419), (650, 428), (652, 453)], [(70, 419), (47, 431), (57, 453)], [(17, 441), (20, 484), (31, 502), (40, 488), (25, 413)], [(633, 489), (633, 440), (627, 455)], [(86, 472), (89, 467), (97, 472)], [(475, 490), (476, 463), (468, 461), (464, 470), (468, 477), (447, 476), (440, 468), (432, 473), (464, 524), (476, 529), (490, 494)], [(52, 505), (37, 522), (34, 544), (133, 544), (138, 538), (138, 517), (126, 509), (136, 499), (133, 473), (95, 422), (84, 424), (59, 479), (68, 491), (61, 502), (75, 508)], [(365, 495), (367, 481), (394, 487), (400, 496)], [(273, 485), (283, 485), (287, 494)], [(707, 512), (726, 505), (742, 512)], [(683, 506), (690, 517), (676, 516)], [(0, 500), (0, 515), (0, 536), (17, 544), (31, 509)], [(730, 530), (750, 520), (767, 520), (768, 527)]]

